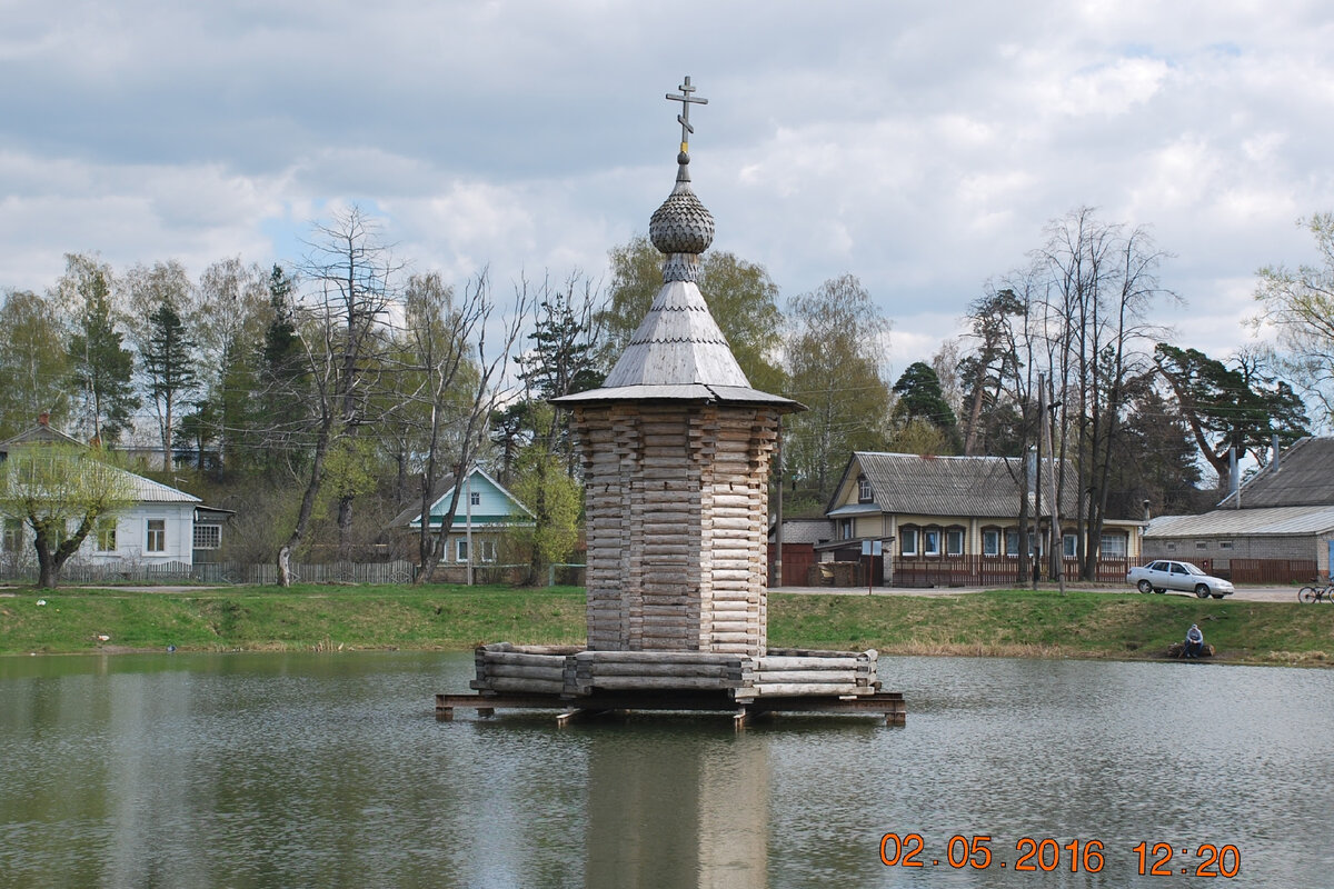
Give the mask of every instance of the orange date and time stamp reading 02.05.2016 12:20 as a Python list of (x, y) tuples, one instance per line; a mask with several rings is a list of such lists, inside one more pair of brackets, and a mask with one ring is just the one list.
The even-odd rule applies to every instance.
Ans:
[[(1003, 868), (1018, 872), (1069, 870), (1071, 873), (1098, 873), (1107, 864), (1106, 844), (1102, 840), (1070, 840), (1061, 842), (1053, 837), (1019, 837), (1014, 844), (1017, 857), (1010, 860), (992, 853), (992, 837), (987, 834), (950, 837), (943, 849), (928, 849), (920, 833), (886, 833), (880, 837), (880, 864), (886, 868), (954, 869)], [(1173, 846), (1167, 842), (1141, 842), (1130, 849), (1137, 856), (1137, 873), (1150, 877), (1173, 877), (1194, 873), (1197, 877), (1235, 877), (1241, 873), (1242, 853), (1234, 845), (1199, 844), (1194, 857), (1189, 846), (1181, 853), (1185, 866), (1173, 865)], [(943, 853), (943, 854), (942, 854)], [(1193, 865), (1193, 866), (1191, 866)]]

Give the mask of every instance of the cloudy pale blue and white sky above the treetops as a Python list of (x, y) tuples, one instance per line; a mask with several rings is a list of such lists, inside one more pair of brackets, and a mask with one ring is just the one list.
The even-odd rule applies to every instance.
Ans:
[(291, 263), (356, 201), (419, 271), (598, 277), (671, 189), (691, 75), (715, 247), (784, 297), (851, 272), (896, 377), (1081, 207), (1174, 259), (1177, 339), (1334, 209), (1325, 1), (0, 0), (0, 289)]

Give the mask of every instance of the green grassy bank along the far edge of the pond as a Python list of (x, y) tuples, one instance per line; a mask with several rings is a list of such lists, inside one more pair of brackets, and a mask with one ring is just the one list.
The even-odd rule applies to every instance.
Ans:
[[(12, 593), (12, 594), (11, 594)], [(39, 605), (44, 601), (44, 605)], [(1161, 657), (1191, 622), (1222, 660), (1334, 665), (1334, 608), (1138, 593), (770, 597), (770, 644), (892, 654)], [(99, 636), (107, 636), (100, 640)], [(467, 649), (578, 644), (583, 590), (313, 586), (4, 590), (0, 654), (97, 650)]]

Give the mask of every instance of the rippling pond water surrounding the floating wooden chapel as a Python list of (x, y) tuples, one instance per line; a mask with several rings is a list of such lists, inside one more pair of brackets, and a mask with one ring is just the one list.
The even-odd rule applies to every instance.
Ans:
[[(906, 728), (436, 722), (432, 696), (471, 672), (471, 653), (0, 658), (0, 886), (1291, 888), (1334, 872), (1334, 672), (882, 658)], [(1155, 866), (1173, 876), (1139, 876)]]

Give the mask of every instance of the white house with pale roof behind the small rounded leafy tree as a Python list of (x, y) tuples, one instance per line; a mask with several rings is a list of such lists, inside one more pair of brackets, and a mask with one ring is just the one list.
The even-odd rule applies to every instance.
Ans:
[[(44, 415), (37, 425), (0, 441), (0, 461), (20, 448), (41, 445), (87, 446), (51, 428)], [(205, 506), (195, 494), (152, 478), (124, 469), (115, 472), (127, 476), (133, 502), (117, 514), (97, 521), (93, 533), (67, 564), (67, 576), (79, 566), (132, 574), (189, 574), (196, 556), (208, 561), (209, 554), (221, 546), (223, 525), (232, 514), (229, 510)], [(24, 576), (35, 564), (32, 529), (20, 516), (3, 516), (0, 566), (11, 576)]]

